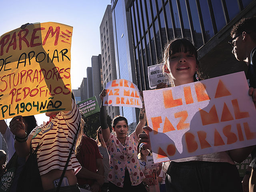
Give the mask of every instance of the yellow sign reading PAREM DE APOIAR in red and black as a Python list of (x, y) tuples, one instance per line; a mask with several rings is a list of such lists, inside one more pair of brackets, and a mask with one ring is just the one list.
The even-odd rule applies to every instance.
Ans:
[(0, 120), (71, 110), (72, 29), (36, 23), (0, 37)]

